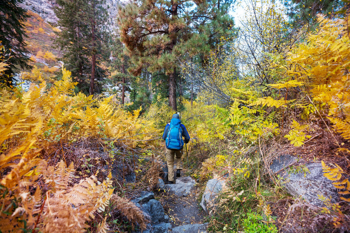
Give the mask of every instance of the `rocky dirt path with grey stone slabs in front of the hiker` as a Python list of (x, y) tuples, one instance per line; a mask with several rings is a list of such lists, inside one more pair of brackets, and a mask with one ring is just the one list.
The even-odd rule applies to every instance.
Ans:
[(143, 191), (132, 199), (151, 220), (143, 233), (207, 233), (195, 181), (190, 176), (175, 179), (175, 184), (164, 184), (159, 179), (155, 192)]

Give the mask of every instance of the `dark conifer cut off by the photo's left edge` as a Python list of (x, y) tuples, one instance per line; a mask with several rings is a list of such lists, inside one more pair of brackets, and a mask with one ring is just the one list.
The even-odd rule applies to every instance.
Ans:
[(5, 71), (7, 80), (0, 80), (5, 82), (8, 86), (12, 85), (12, 75), (14, 68), (20, 66), (23, 68), (31, 68), (27, 65), (29, 53), (26, 47), (25, 25), (23, 22), (27, 20), (29, 15), (27, 10), (19, 7), (23, 0), (5, 0), (0, 1), (0, 45), (5, 49), (5, 59), (9, 65)]

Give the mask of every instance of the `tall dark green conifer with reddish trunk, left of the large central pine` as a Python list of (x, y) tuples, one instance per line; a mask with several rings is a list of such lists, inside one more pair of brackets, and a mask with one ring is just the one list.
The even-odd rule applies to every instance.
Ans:
[(102, 80), (105, 71), (101, 61), (107, 56), (104, 48), (107, 10), (105, 0), (57, 0), (55, 8), (58, 17), (56, 43), (64, 52), (63, 61), (72, 77), (79, 83), (79, 89), (92, 95), (99, 91), (95, 79)]

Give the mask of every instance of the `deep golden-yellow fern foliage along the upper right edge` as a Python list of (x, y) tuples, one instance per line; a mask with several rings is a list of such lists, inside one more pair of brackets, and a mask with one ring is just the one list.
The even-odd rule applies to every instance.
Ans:
[(289, 53), (287, 73), (305, 83), (315, 102), (327, 104), (334, 129), (350, 139), (349, 21), (319, 16), (318, 22), (318, 30)]

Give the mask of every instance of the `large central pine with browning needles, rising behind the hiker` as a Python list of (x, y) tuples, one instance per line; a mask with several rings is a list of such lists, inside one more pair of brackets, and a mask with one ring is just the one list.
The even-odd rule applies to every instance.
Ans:
[(138, 75), (147, 67), (151, 73), (165, 73), (169, 105), (175, 111), (177, 63), (208, 54), (233, 27), (233, 20), (217, 1), (198, 1), (194, 6), (189, 0), (138, 0), (120, 8), (118, 20), (121, 41), (133, 63), (130, 72)]

